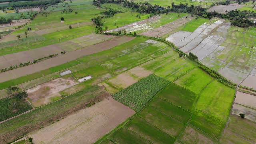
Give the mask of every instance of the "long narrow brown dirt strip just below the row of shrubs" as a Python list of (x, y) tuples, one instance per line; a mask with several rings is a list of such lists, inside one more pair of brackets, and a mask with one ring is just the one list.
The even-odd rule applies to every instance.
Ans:
[(120, 44), (123, 44), (133, 39), (134, 37), (130, 37), (130, 36), (119, 36), (117, 38), (114, 38), (99, 44), (95, 44), (93, 46), (88, 46), (80, 50), (72, 51), (67, 54), (60, 55), (54, 58), (50, 58), (42, 62), (38, 62), (36, 64), (32, 64), (29, 66), (3, 72), (3, 73), (0, 73), (0, 82), (12, 80), (14, 78), (19, 78), (21, 76), (26, 76), (27, 74), (33, 74), (41, 70), (46, 70), (48, 68), (58, 66), (60, 64), (64, 64), (66, 62), (70, 62), (82, 56), (108, 50), (110, 48), (113, 48), (114, 46), (118, 46)]

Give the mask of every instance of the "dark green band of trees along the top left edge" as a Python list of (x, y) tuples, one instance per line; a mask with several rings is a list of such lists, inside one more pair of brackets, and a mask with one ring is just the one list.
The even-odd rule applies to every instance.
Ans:
[(19, 1), (19, 2), (10, 2), (9, 6), (11, 7), (20, 7), (20, 6), (44, 6), (44, 5), (53, 5), (61, 2), (61, 0), (33, 0), (33, 1)]

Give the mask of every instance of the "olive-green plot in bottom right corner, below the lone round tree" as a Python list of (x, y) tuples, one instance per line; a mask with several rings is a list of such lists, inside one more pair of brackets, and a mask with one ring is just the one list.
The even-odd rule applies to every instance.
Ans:
[(256, 123), (242, 119), (240, 116), (230, 115), (227, 130), (256, 143)]

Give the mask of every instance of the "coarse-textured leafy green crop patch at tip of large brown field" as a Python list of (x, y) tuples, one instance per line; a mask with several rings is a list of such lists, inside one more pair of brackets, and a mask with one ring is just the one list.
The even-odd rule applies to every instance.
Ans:
[(154, 74), (113, 95), (113, 98), (129, 106), (136, 112), (142, 108), (170, 82)]

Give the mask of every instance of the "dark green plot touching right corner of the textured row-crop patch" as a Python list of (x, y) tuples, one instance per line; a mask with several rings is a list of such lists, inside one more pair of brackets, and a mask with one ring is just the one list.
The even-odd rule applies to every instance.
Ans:
[(197, 96), (194, 92), (172, 83), (159, 92), (157, 97), (191, 111)]

